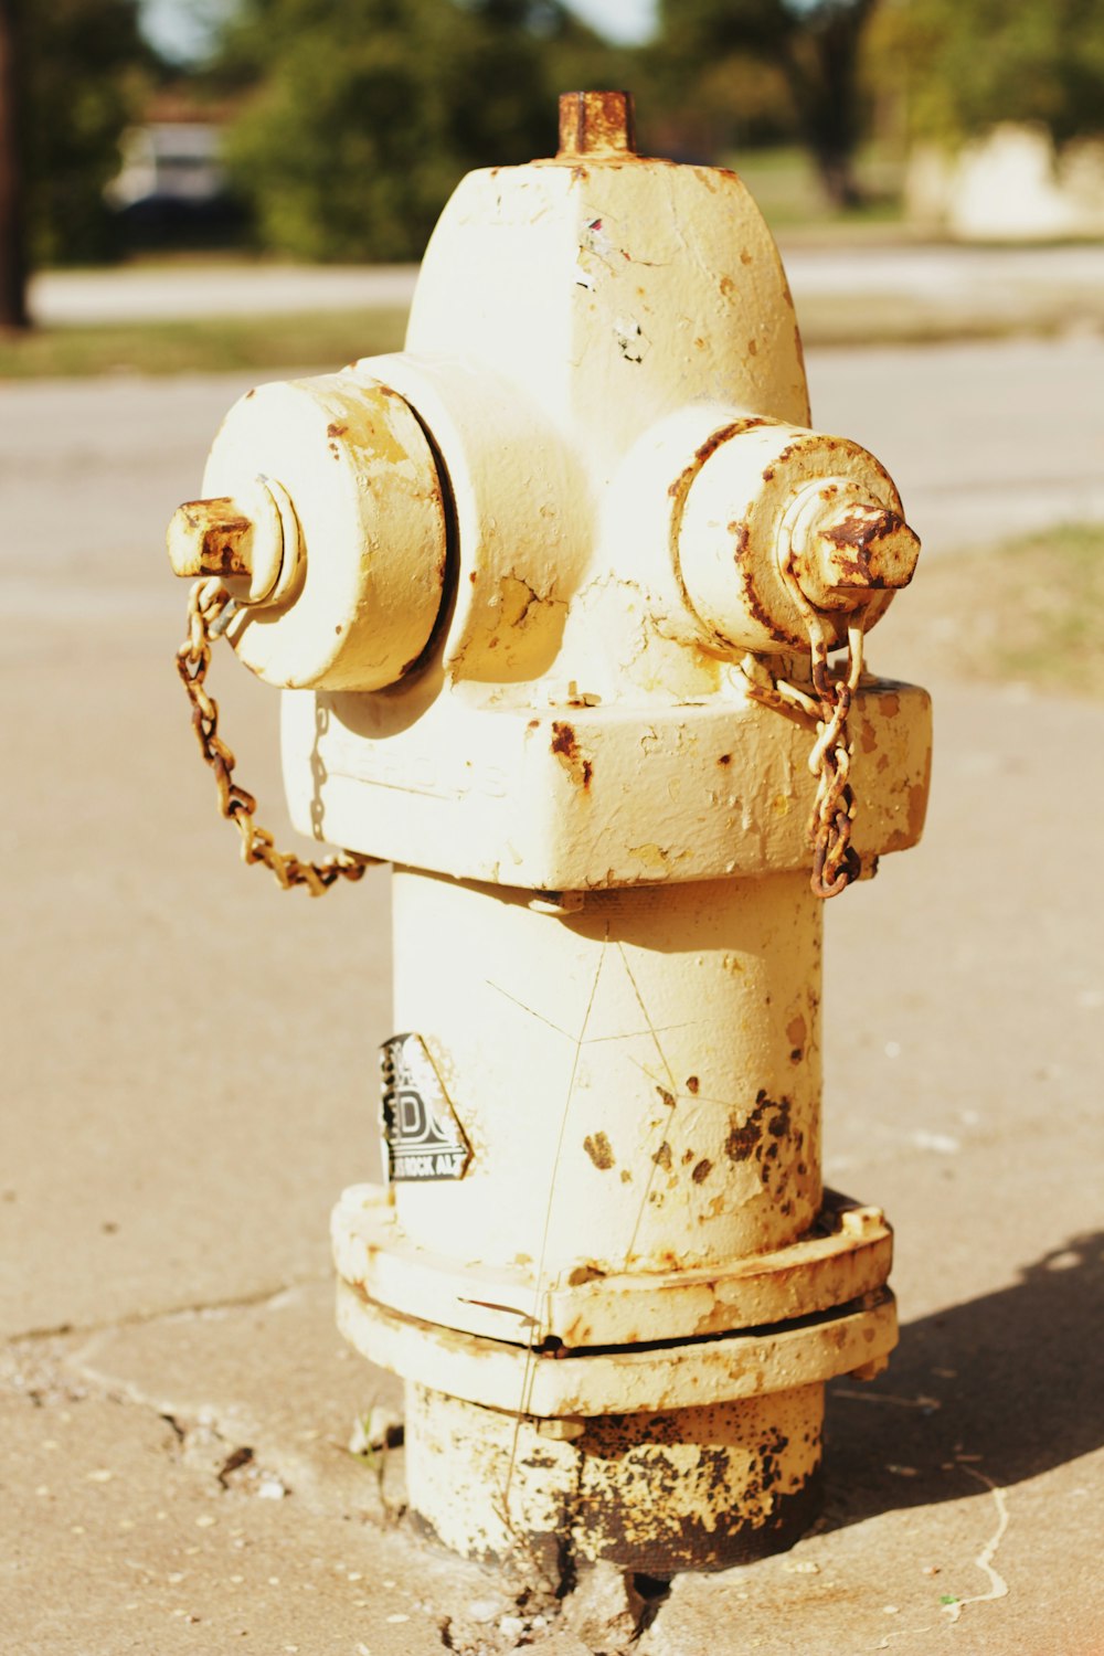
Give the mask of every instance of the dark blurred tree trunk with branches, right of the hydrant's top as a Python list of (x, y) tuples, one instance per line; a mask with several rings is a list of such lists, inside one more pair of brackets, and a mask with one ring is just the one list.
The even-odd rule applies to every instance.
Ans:
[(793, 123), (836, 205), (859, 199), (854, 151), (862, 134), (862, 33), (877, 0), (662, 0), (659, 50), (684, 76), (718, 53), (780, 71)]

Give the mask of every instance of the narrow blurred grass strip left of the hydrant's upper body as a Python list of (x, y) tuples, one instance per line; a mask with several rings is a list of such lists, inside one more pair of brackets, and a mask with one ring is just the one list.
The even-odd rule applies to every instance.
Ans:
[(406, 310), (308, 311), (0, 335), (0, 379), (338, 368), (402, 348)]

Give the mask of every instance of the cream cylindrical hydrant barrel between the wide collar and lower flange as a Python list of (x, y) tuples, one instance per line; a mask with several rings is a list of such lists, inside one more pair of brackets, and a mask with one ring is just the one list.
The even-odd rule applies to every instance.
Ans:
[[(478, 1144), (462, 1179), (396, 1184), (412, 1244), (463, 1237), (490, 1267), (598, 1278), (722, 1265), (814, 1224), (821, 904), (804, 874), (596, 893), (554, 917), (526, 893), (404, 871), (394, 934), (396, 1027), (434, 1032)], [(665, 1333), (624, 1315), (637, 1340)]]

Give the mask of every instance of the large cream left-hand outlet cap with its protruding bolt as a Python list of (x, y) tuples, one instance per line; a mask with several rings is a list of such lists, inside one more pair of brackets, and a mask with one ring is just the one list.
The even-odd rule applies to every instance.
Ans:
[(225, 581), (242, 604), (227, 636), (258, 677), (377, 691), (417, 664), (444, 604), (447, 510), (396, 391), (356, 368), (260, 386), (227, 416), (204, 485), (169, 525), (169, 558)]

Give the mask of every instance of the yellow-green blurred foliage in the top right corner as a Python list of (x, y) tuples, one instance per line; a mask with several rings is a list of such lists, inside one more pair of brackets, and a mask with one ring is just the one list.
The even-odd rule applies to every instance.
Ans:
[(886, 0), (871, 65), (914, 136), (957, 142), (998, 121), (1038, 121), (1059, 144), (1104, 131), (1104, 0)]

